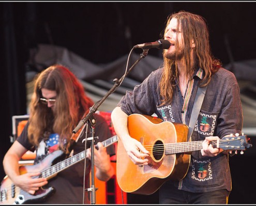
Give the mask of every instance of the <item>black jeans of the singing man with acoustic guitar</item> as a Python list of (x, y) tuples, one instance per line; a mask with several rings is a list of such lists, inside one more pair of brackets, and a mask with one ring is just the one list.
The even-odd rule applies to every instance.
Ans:
[(159, 188), (160, 204), (228, 204), (230, 192), (217, 190), (208, 193), (191, 193), (178, 190), (172, 184)]

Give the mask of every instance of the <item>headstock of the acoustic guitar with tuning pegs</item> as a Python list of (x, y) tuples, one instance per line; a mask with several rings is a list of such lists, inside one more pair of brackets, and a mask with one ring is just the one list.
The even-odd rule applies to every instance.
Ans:
[(231, 153), (232, 150), (236, 150), (236, 153), (237, 150), (241, 150), (240, 153), (243, 154), (243, 150), (246, 150), (246, 148), (249, 147), (252, 147), (252, 144), (248, 143), (247, 135), (244, 135), (244, 133), (242, 133), (242, 135), (239, 135), (238, 133), (235, 135), (230, 134), (230, 136), (225, 136), (219, 142), (219, 148), (223, 150), (231, 150)]

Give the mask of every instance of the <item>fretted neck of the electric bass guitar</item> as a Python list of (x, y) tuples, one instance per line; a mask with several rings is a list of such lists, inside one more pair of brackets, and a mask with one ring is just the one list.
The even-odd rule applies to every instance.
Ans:
[[(118, 140), (117, 135), (114, 135), (111, 138), (109, 138), (108, 140), (105, 140), (101, 143), (102, 143), (103, 147), (108, 147), (108, 146), (112, 145), (113, 143), (117, 142), (117, 140)], [(96, 147), (96, 149), (98, 149), (97, 145), (95, 147)], [(53, 166), (43, 169), (41, 171), (41, 177), (49, 179), (49, 178), (55, 176), (60, 171), (72, 166), (73, 164), (76, 164), (77, 162), (82, 161), (85, 158), (85, 155), (86, 155), (86, 151), (81, 151), (81, 152), (77, 153), (76, 155), (69, 157), (66, 160), (63, 160), (61, 162), (54, 164)]]

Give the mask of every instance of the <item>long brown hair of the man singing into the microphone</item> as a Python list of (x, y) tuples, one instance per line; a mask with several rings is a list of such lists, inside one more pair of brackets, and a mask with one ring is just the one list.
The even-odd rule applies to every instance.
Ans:
[[(165, 32), (167, 32), (167, 26), (173, 18), (177, 20), (177, 29), (180, 25), (180, 29), (183, 34), (185, 76), (191, 79), (192, 74), (197, 69), (197, 66), (199, 66), (204, 71), (204, 77), (200, 82), (200, 87), (204, 87), (210, 82), (212, 75), (218, 71), (219, 67), (221, 67), (220, 61), (215, 59), (210, 51), (209, 32), (206, 20), (200, 15), (186, 11), (179, 11), (168, 16), (164, 35)], [(195, 44), (192, 59), (190, 55), (192, 49), (190, 46), (191, 40), (193, 40)], [(177, 39), (175, 45), (178, 46)], [(160, 95), (162, 97), (162, 104), (170, 104), (176, 84), (175, 79), (178, 78), (179, 74), (177, 62), (164, 57), (165, 52), (167, 52), (167, 50), (163, 50), (164, 71), (159, 88)], [(178, 49), (176, 49), (176, 57), (177, 52)]]

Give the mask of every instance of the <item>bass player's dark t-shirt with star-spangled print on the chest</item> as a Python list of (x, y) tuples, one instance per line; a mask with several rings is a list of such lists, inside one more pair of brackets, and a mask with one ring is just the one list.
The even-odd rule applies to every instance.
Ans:
[[(98, 115), (94, 114), (96, 118), (95, 125), (95, 134), (94, 136), (98, 136), (98, 139), (95, 140), (95, 144), (98, 142), (103, 142), (111, 137), (111, 132), (109, 130), (109, 126), (105, 119)], [(29, 123), (28, 123), (29, 124)], [(33, 145), (28, 142), (27, 139), (27, 127), (28, 124), (23, 129), (21, 135), (17, 139), (17, 141), (22, 144), (26, 149), (34, 151)], [(86, 128), (85, 128), (86, 129)], [(84, 131), (85, 131), (84, 129)], [(88, 127), (87, 138), (91, 135), (90, 127)], [(85, 139), (85, 132), (83, 132), (73, 147), (73, 155), (85, 150), (85, 143), (82, 141)], [(52, 153), (58, 150), (58, 134), (51, 134), (49, 139), (45, 142), (41, 142), (39, 147), (36, 148), (37, 157), (35, 160), (35, 164), (40, 164), (45, 157), (49, 158), (49, 153)], [(86, 148), (89, 148), (91, 145), (91, 141), (87, 140)], [(107, 151), (110, 155), (114, 155), (115, 150), (114, 146), (110, 145), (107, 147)], [(53, 158), (54, 159), (54, 158)], [(51, 159), (52, 160), (52, 159)], [(56, 159), (57, 160), (57, 159)], [(63, 159), (64, 160), (64, 159)], [(91, 171), (91, 161), (86, 159), (86, 171), (84, 171), (84, 161), (85, 159), (78, 161), (77, 163), (66, 167), (64, 170), (57, 173), (56, 177), (53, 177), (49, 180), (49, 183), (45, 187), (53, 187), (55, 192), (47, 197), (40, 198), (37, 202), (32, 203), (43, 203), (43, 204), (83, 204), (83, 191), (89, 186), (89, 173)], [(55, 164), (55, 162), (53, 162)], [(85, 173), (85, 179), (84, 179)], [(83, 182), (85, 180), (85, 185)], [(85, 192), (85, 201), (84, 203), (90, 203), (90, 193)], [(30, 203), (30, 202), (29, 202)]]

